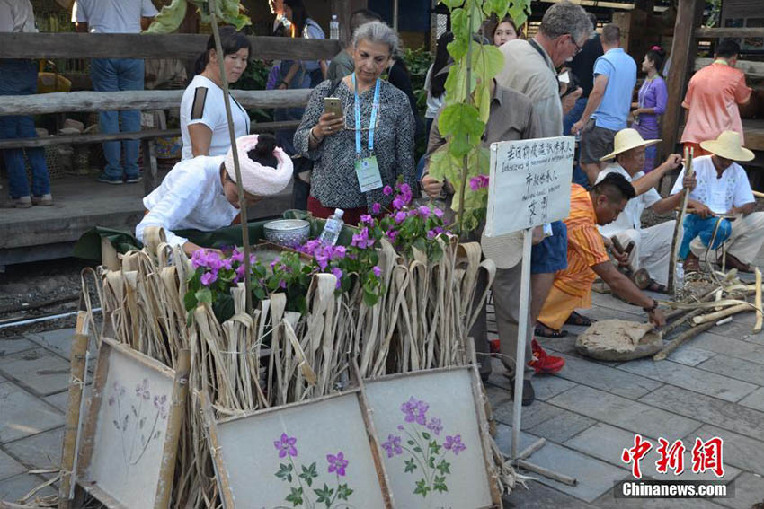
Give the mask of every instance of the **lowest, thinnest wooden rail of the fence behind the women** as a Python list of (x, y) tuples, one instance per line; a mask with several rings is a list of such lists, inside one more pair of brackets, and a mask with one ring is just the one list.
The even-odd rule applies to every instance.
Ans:
[[(283, 122), (262, 122), (250, 127), (252, 134), (267, 133), (278, 129), (294, 129), (299, 126), (299, 120)], [(181, 129), (151, 129), (135, 133), (114, 133), (110, 135), (71, 135), (46, 136), (44, 138), (14, 138), (0, 140), (0, 150), (5, 148), (35, 148), (51, 145), (87, 145), (117, 140), (147, 140), (164, 136), (181, 136)]]

